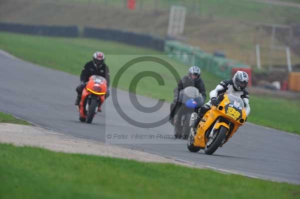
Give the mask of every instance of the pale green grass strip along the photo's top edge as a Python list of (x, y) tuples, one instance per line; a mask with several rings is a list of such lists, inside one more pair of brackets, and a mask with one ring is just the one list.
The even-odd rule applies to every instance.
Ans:
[[(103, 6), (124, 7), (123, 0), (60, 0), (60, 2), (98, 3)], [(289, 0), (297, 2), (298, 0)], [(299, 2), (299, 1), (298, 1)], [(252, 0), (138, 0), (136, 9), (169, 10), (171, 5), (184, 5), (188, 13), (234, 20), (264, 23), (299, 22), (299, 8), (279, 6)]]

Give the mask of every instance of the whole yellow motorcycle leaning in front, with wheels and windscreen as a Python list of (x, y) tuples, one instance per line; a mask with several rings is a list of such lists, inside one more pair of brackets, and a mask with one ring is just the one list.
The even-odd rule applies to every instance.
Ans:
[[(187, 149), (190, 152), (204, 149), (205, 154), (213, 154), (246, 122), (245, 105), (240, 96), (224, 94), (218, 100), (219, 105), (212, 106), (205, 113), (196, 132), (190, 128), (187, 139)], [(190, 120), (194, 120), (196, 116), (196, 113), (192, 113)]]

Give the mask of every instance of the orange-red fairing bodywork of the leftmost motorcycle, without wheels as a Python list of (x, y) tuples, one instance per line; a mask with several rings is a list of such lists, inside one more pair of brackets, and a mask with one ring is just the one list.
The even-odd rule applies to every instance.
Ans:
[(101, 105), (105, 100), (106, 93), (106, 80), (104, 77), (92, 75), (89, 77), (89, 80), (82, 91), (81, 100), (79, 103), (79, 113), (81, 118), (86, 118), (84, 114), (84, 101), (89, 95), (98, 96), (98, 110), (100, 110)]

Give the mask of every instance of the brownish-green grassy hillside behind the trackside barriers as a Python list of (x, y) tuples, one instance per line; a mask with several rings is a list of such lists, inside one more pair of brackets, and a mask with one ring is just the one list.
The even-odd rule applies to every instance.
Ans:
[[(199, 46), (209, 53), (216, 50), (223, 51), (226, 57), (253, 67), (256, 67), (255, 44), (259, 43), (261, 66), (267, 68), (271, 30), (270, 27), (264, 26), (258, 30), (257, 22), (289, 24), (296, 23), (300, 19), (298, 8), (269, 5), (251, 0), (195, 0), (199, 3), (200, 16), (192, 14), (193, 10), (197, 9), (194, 0), (157, 0), (158, 8), (163, 10), (158, 12), (154, 12), (156, 0), (138, 0), (136, 10), (126, 9), (125, 1), (10, 0), (4, 1), (0, 6), (0, 13), (2, 13), (0, 21), (44, 25), (73, 24), (79, 27), (111, 28), (164, 37), (169, 16), (167, 2), (169, 4), (182, 2), (188, 4), (183, 33), (186, 43)], [(144, 8), (140, 8), (142, 2)], [(52, 14), (52, 10), (55, 10), (55, 15)], [(96, 12), (99, 14), (95, 15)], [(287, 29), (277, 29), (276, 35), (280, 36), (280, 39), (275, 39), (275, 45), (283, 45), (288, 34)], [(271, 62), (287, 67), (285, 50), (273, 50)], [(291, 50), (291, 63), (292, 65), (300, 63), (300, 55), (293, 50)]]

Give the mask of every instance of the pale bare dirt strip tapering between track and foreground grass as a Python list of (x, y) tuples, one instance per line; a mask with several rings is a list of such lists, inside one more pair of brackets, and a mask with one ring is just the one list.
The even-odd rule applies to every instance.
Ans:
[(16, 146), (41, 147), (57, 152), (107, 156), (137, 160), (140, 162), (172, 163), (200, 168), (193, 164), (171, 160), (162, 156), (93, 140), (76, 138), (35, 126), (0, 123), (0, 143), (11, 143)]

